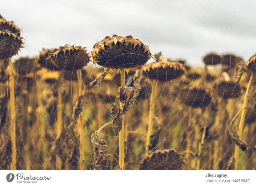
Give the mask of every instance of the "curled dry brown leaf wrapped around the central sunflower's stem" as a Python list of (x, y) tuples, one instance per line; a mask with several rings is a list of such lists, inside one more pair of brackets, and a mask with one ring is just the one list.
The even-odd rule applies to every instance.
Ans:
[[(117, 136), (122, 127), (122, 114), (127, 112), (132, 104), (135, 103), (137, 97), (140, 93), (141, 87), (128, 87), (123, 86), (119, 87), (116, 95), (115, 103), (111, 105), (111, 118), (113, 120), (113, 126), (115, 129), (114, 136)], [(124, 106), (120, 107), (120, 102), (124, 104)]]

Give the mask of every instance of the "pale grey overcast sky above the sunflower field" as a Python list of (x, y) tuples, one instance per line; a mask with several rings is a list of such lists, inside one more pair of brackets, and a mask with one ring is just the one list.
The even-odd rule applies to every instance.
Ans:
[[(132, 35), (168, 58), (202, 64), (211, 50), (248, 59), (256, 52), (255, 0), (1, 1), (0, 14), (21, 28), (35, 56), (65, 44), (92, 46), (106, 35)], [(152, 59), (151, 59), (152, 60)]]

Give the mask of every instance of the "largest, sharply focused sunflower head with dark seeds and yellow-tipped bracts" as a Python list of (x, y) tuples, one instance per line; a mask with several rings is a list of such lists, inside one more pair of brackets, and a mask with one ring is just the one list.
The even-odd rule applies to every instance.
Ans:
[(106, 36), (93, 46), (93, 63), (112, 69), (132, 68), (144, 65), (152, 54), (148, 46), (131, 35)]

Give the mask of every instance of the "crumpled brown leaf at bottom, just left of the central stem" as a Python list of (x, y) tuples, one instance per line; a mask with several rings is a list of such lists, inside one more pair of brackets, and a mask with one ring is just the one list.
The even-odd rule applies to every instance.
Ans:
[(93, 158), (94, 161), (90, 165), (90, 170), (112, 170), (110, 166), (110, 160), (106, 155), (108, 151), (108, 142), (100, 139), (98, 133), (92, 133), (91, 143), (94, 147)]

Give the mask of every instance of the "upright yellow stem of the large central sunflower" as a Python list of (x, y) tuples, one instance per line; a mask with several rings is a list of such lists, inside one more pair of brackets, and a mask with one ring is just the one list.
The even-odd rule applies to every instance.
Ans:
[[(121, 87), (125, 83), (125, 69), (122, 69), (121, 72)], [(120, 107), (123, 107), (123, 103), (120, 102)], [(122, 128), (119, 132), (119, 167), (121, 170), (124, 170), (124, 114), (122, 114)]]

